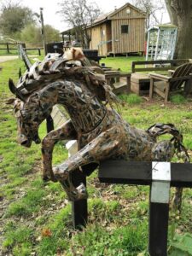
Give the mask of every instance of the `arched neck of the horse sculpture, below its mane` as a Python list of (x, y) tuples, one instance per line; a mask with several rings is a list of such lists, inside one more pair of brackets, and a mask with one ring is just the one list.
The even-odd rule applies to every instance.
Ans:
[(102, 122), (107, 109), (86, 84), (64, 80), (56, 90), (57, 103), (66, 108), (76, 131), (90, 132)]

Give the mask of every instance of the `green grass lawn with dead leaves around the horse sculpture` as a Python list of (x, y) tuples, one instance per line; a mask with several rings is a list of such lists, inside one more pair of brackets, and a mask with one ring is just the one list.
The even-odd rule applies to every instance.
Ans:
[[(141, 57), (134, 57), (135, 59)], [(138, 60), (137, 59), (137, 60)], [(101, 62), (130, 71), (132, 57), (107, 58)], [(12, 95), (8, 79), (17, 81), (20, 60), (4, 62), (0, 71), (0, 254), (54, 255), (148, 255), (148, 192), (144, 186), (100, 184), (96, 172), (88, 178), (89, 223), (82, 232), (72, 229), (71, 205), (59, 183), (41, 179), (40, 145), (22, 148), (16, 143), (16, 121), (6, 100)], [(183, 132), (192, 150), (191, 102), (146, 102), (137, 96), (121, 96), (124, 119), (147, 129), (154, 123), (173, 123)], [(45, 125), (40, 127), (40, 137)], [(61, 143), (55, 146), (54, 164), (67, 158)], [(175, 159), (177, 160), (177, 159)], [(173, 194), (173, 190), (172, 190)], [(184, 189), (183, 211), (170, 212), (169, 255), (192, 255), (192, 190)]]

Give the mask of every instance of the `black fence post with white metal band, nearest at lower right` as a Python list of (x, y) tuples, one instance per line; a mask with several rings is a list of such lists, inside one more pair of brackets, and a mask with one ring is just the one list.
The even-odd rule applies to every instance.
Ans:
[(149, 253), (167, 255), (171, 163), (152, 162), (149, 203)]

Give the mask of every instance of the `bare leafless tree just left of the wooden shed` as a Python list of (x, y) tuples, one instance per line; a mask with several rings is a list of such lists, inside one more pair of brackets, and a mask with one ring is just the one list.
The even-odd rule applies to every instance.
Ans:
[(86, 0), (62, 0), (59, 3), (61, 9), (58, 13), (62, 20), (71, 26), (76, 34), (76, 37), (82, 43), (84, 48), (90, 48), (91, 27), (90, 33), (88, 26), (91, 26), (93, 21), (101, 14), (100, 9), (96, 3), (87, 3)]

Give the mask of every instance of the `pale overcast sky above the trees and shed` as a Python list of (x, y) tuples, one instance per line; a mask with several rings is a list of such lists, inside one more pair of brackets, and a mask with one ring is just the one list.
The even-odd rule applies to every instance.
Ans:
[[(70, 1), (70, 0), (69, 0)], [(71, 0), (73, 1), (73, 0)], [(89, 1), (89, 0), (88, 0)], [(65, 22), (61, 21), (61, 16), (56, 14), (56, 12), (59, 10), (58, 3), (60, 0), (22, 0), (21, 3), (33, 11), (39, 13), (39, 8), (44, 8), (44, 24), (49, 24), (51, 26), (54, 26), (59, 31), (64, 31), (67, 29), (67, 24)], [(113, 10), (114, 7), (121, 7), (125, 3), (131, 1), (126, 0), (92, 0), (89, 2), (95, 2), (97, 5), (102, 9), (103, 13), (108, 13), (109, 11)], [(159, 14), (161, 17), (161, 13)], [(163, 20), (162, 22), (168, 22), (169, 18), (167, 14), (162, 15)]]

